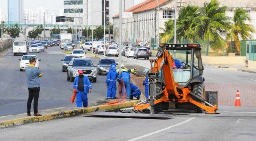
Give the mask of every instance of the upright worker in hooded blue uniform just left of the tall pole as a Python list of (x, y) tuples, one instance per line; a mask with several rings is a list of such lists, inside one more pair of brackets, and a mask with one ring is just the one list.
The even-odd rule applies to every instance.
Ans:
[(115, 64), (111, 64), (110, 70), (107, 75), (106, 84), (108, 85), (107, 90), (107, 98), (115, 99), (115, 92), (117, 90), (116, 79), (118, 77), (118, 73), (116, 72)]

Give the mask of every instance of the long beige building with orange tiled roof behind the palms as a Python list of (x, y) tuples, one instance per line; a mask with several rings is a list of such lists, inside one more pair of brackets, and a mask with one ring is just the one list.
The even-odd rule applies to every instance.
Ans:
[[(150, 42), (151, 38), (157, 38), (157, 0), (145, 0), (144, 2), (127, 9), (125, 12), (133, 12), (133, 18), (122, 19), (122, 42), (146, 41)], [(211, 0), (177, 0), (178, 9), (187, 5), (203, 6), (204, 2)], [(242, 8), (252, 19), (254, 27), (256, 27), (256, 0), (219, 0), (220, 6), (227, 6), (226, 15), (232, 17), (235, 9)], [(164, 22), (170, 18), (174, 19), (174, 0), (158, 0), (159, 25), (164, 28)], [(178, 13), (178, 12), (177, 12)], [(163, 33), (160, 30), (160, 33)], [(114, 41), (119, 42), (119, 15), (113, 17), (113, 34)], [(253, 35), (256, 39), (256, 34)]]

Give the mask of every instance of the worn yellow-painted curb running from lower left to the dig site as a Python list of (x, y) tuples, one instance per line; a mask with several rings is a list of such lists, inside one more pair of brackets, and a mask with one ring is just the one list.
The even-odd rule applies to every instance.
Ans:
[(48, 121), (48, 120), (54, 120), (58, 118), (63, 117), (72, 117), (79, 114), (85, 114), (85, 113), (91, 113), (94, 111), (95, 108), (99, 108), (99, 110), (112, 110), (116, 108), (129, 108), (133, 107), (134, 103), (139, 103), (140, 100), (134, 100), (130, 102), (123, 102), (123, 103), (116, 103), (112, 105), (98, 105), (98, 106), (92, 106), (89, 108), (78, 108), (75, 110), (69, 110), (69, 111), (57, 111), (51, 114), (45, 114), (40, 117), (38, 116), (32, 116), (32, 117), (23, 117), (15, 120), (6, 120), (3, 122), (0, 122), (0, 129), (12, 127), (12, 126), (18, 126), (26, 123), (37, 123), (42, 121)]

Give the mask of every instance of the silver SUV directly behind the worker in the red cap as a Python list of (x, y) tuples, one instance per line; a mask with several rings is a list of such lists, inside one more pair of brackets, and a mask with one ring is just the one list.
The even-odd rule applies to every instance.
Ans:
[(88, 58), (72, 58), (67, 68), (67, 80), (73, 82), (75, 77), (78, 76), (78, 70), (82, 70), (90, 81), (97, 81), (97, 70), (93, 63)]

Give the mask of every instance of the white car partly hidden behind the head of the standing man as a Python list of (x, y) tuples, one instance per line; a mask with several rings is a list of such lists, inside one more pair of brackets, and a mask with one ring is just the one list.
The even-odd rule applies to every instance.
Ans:
[(34, 57), (36, 59), (35, 67), (37, 67), (39, 69), (39, 61), (41, 61), (41, 59), (38, 60), (36, 55), (23, 55), (21, 57), (21, 59), (19, 59), (21, 61), (20, 62), (20, 71), (27, 68), (27, 66), (29, 65), (29, 59), (31, 57)]

